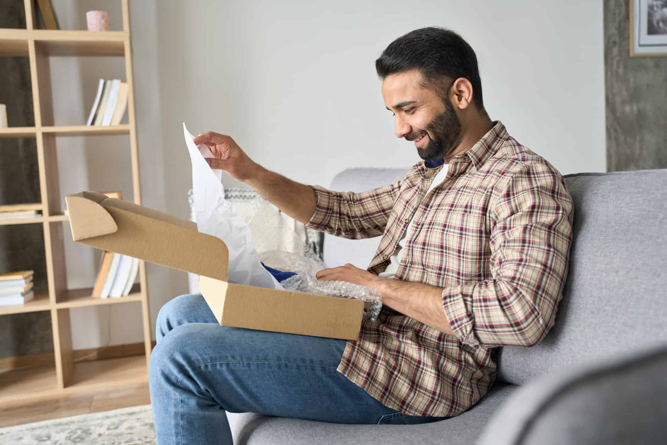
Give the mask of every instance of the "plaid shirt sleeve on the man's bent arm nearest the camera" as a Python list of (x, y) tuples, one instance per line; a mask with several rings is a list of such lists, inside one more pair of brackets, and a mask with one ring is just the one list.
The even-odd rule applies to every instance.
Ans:
[(490, 212), (493, 278), (444, 288), (444, 313), (471, 346), (532, 346), (554, 325), (568, 274), (574, 204), (558, 171), (522, 163)]

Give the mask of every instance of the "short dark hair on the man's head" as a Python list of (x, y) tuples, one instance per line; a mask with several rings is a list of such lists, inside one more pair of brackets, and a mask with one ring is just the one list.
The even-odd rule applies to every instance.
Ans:
[(376, 60), (376, 71), (382, 80), (414, 68), (424, 78), (422, 87), (434, 89), (443, 100), (447, 98), (448, 82), (465, 77), (472, 84), (473, 103), (484, 111), (477, 56), (454, 31), (440, 27), (415, 29), (390, 43)]

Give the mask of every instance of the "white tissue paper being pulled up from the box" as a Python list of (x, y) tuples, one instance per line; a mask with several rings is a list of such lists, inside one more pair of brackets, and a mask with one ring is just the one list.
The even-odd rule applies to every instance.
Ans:
[(259, 262), (253, 246), (250, 230), (245, 220), (225, 200), (225, 188), (221, 183), (222, 171), (209, 167), (204, 157), (213, 157), (205, 144), (195, 145), (194, 136), (183, 122), (185, 143), (192, 161), (192, 191), (194, 197), (197, 230), (220, 238), (229, 250), (227, 282), (259, 288), (282, 289)]

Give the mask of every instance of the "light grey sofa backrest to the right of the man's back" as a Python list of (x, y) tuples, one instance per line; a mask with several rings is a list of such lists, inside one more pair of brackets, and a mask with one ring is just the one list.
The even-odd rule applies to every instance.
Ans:
[(542, 342), (499, 351), (506, 382), (667, 343), (667, 169), (564, 179), (574, 238), (563, 300)]

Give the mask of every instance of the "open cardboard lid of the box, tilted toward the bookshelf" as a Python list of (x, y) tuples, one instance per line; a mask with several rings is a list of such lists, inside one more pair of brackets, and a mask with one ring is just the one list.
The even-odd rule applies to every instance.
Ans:
[(76, 242), (227, 281), (227, 246), (193, 221), (91, 191), (65, 201)]

